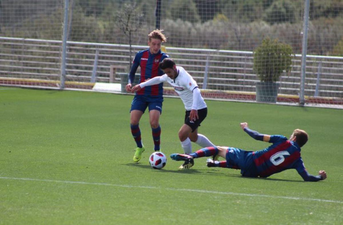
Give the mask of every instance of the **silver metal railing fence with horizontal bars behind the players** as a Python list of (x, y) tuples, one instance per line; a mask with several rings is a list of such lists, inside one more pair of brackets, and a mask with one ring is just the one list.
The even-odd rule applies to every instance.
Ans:
[[(60, 87), (61, 41), (0, 37), (0, 84)], [(146, 46), (132, 46), (134, 52)], [(179, 66), (203, 89), (207, 98), (255, 101), (256, 83), (251, 51), (166, 48)], [(129, 46), (68, 42), (66, 87), (92, 89), (95, 82), (127, 82)], [(281, 76), (279, 103), (299, 102), (301, 55)], [(118, 91), (118, 89), (114, 90)], [(173, 94), (168, 88), (165, 94)], [(307, 56), (307, 105), (343, 106), (343, 57)]]

